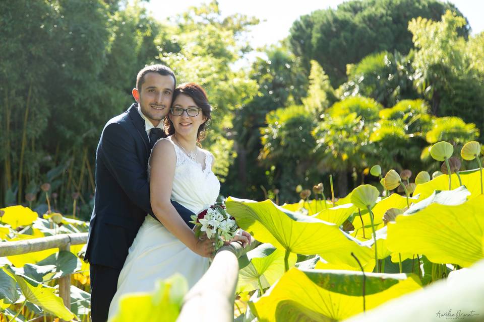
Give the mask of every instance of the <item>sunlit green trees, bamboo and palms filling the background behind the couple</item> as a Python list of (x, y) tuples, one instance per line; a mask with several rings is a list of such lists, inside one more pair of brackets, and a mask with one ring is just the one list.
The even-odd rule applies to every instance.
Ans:
[(482, 141), (484, 36), (450, 4), (345, 2), (300, 17), (239, 68), (257, 19), (212, 2), (162, 23), (141, 3), (0, 4), (0, 204), (34, 197), (43, 213), (48, 182), (56, 209), (72, 213), (80, 193), (89, 218), (102, 127), (152, 63), (206, 89), (215, 109), (203, 146), (224, 196), (294, 202), (297, 184), (328, 187), (330, 174), (343, 196), (376, 163), (434, 171), (430, 144)]

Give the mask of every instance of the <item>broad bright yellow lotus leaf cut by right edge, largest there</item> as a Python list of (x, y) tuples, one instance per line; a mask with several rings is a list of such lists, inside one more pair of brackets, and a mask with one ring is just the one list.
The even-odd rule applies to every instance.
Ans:
[(484, 195), (461, 205), (433, 203), (389, 223), (387, 245), (394, 252), (423, 254), (434, 263), (469, 267), (484, 258)]

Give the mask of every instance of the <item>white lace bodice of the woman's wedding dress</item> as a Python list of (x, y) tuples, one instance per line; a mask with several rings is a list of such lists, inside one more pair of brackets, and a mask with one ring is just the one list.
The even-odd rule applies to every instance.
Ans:
[[(176, 145), (171, 138), (159, 139), (171, 142), (176, 153), (175, 175), (171, 189), (171, 200), (178, 202), (194, 213), (198, 213), (217, 200), (220, 193), (220, 182), (212, 172), (213, 155), (207, 150), (201, 150), (205, 155), (205, 169), (198, 162)], [(148, 180), (151, 175), (150, 159), (148, 160)]]

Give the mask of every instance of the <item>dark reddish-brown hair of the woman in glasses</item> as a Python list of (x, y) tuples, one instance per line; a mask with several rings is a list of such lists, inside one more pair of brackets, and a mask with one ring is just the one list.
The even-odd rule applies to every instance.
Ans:
[[(181, 84), (173, 92), (173, 99), (171, 101), (172, 106), (176, 98), (181, 94), (190, 96), (192, 100), (195, 102), (195, 104), (197, 105), (197, 107), (202, 109), (202, 114), (206, 120), (205, 122), (203, 122), (203, 124), (199, 126), (197, 131), (197, 142), (201, 142), (205, 138), (206, 124), (212, 119), (212, 116), (211, 116), (212, 106), (208, 103), (207, 93), (205, 93), (205, 91), (200, 85), (197, 85), (195, 83)], [(165, 125), (165, 133), (167, 135), (173, 135), (175, 133), (175, 128), (173, 126), (173, 123), (171, 122), (168, 116), (166, 116), (164, 120), (164, 125)]]

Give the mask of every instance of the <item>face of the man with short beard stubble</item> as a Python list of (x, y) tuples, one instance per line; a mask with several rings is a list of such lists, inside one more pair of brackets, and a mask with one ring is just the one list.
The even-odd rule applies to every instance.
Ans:
[(158, 126), (160, 121), (168, 114), (174, 87), (175, 81), (171, 75), (149, 72), (144, 77), (141, 90), (133, 90), (133, 96), (140, 104), (141, 113), (154, 126)]

